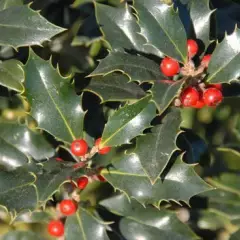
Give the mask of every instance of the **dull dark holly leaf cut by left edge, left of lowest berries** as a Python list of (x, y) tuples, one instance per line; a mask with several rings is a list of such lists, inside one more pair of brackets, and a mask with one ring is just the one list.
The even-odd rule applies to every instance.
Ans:
[(0, 171), (0, 205), (10, 212), (33, 210), (37, 205), (35, 177), (23, 168)]

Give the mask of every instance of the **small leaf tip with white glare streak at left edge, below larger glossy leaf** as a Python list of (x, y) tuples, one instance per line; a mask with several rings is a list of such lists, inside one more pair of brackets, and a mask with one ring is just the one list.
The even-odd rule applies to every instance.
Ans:
[(28, 163), (28, 158), (11, 143), (0, 137), (0, 165), (14, 169)]

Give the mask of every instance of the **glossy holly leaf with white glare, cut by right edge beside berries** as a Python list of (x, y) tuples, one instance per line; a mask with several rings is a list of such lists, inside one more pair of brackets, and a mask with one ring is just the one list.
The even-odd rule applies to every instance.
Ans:
[(236, 29), (231, 35), (216, 46), (208, 67), (208, 82), (224, 83), (237, 80), (240, 76), (240, 30)]

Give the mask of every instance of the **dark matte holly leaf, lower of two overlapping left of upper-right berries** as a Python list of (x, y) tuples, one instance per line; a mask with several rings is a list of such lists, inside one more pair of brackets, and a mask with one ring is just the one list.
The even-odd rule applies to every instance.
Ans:
[(144, 97), (145, 92), (123, 74), (109, 74), (92, 78), (84, 91), (93, 92), (101, 102), (136, 100)]

